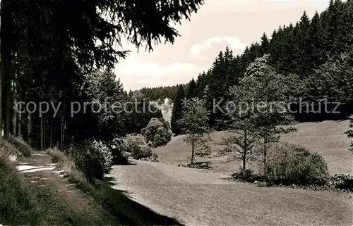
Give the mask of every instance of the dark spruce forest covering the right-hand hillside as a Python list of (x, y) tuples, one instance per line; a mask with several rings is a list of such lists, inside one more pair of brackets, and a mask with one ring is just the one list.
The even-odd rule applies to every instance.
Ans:
[[(218, 103), (224, 99), (220, 104), (224, 107), (229, 99), (229, 87), (239, 84), (256, 58), (268, 54), (266, 63), (284, 80), (297, 79), (296, 90), (287, 101), (311, 101), (315, 102), (315, 108), (323, 104), (323, 99), (340, 102), (336, 109), (340, 113), (313, 113), (309, 109), (295, 114), (297, 120), (346, 119), (353, 113), (349, 85), (353, 79), (352, 44), (353, 1), (331, 0), (328, 8), (322, 13), (316, 12), (313, 18), (304, 12), (297, 23), (278, 27), (271, 37), (264, 33), (259, 42), (247, 46), (240, 56), (234, 56), (228, 47), (220, 51), (212, 67), (198, 75), (195, 96), (205, 98), (210, 125), (222, 129), (226, 116), (212, 111), (213, 101)], [(333, 103), (328, 108), (335, 110), (335, 106)], [(290, 106), (291, 109), (299, 107), (300, 103)]]

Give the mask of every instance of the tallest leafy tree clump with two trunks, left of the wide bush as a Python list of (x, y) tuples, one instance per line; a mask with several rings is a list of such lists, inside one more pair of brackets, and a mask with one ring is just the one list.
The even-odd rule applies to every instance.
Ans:
[(279, 127), (293, 122), (286, 108), (286, 92), (289, 88), (280, 79), (282, 75), (268, 65), (268, 57), (257, 58), (249, 65), (239, 85), (229, 89), (232, 101), (227, 103), (229, 120), (225, 124), (234, 135), (223, 139), (226, 145), (223, 152), (238, 152), (244, 173), (246, 161), (253, 156), (256, 144), (262, 142), (264, 145), (265, 165), (266, 145), (277, 142), (282, 132), (294, 130), (292, 127)]

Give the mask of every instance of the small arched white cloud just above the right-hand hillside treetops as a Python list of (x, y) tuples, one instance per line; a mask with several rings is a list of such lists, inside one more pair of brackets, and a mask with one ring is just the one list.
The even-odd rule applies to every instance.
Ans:
[(227, 42), (231, 45), (232, 49), (245, 49), (246, 44), (240, 42), (237, 37), (229, 37), (229, 36), (215, 36), (210, 39), (203, 41), (201, 44), (195, 44), (191, 46), (190, 54), (192, 56), (199, 56), (200, 54), (204, 53), (208, 49), (211, 49), (214, 44), (220, 44), (222, 42)]

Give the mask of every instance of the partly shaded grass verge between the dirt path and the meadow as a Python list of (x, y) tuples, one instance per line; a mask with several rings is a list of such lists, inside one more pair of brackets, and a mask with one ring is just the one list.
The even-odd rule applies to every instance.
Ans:
[(121, 225), (181, 225), (177, 220), (159, 215), (149, 208), (140, 205), (124, 194), (123, 191), (112, 189), (107, 181), (95, 180), (94, 184), (88, 182), (82, 172), (76, 169), (74, 161), (57, 149), (49, 149), (52, 161), (64, 170), (68, 180), (83, 192), (100, 203)]

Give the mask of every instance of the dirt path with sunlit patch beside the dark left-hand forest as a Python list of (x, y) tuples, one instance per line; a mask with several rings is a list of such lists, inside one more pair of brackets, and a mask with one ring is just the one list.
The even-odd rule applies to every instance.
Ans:
[(62, 172), (55, 169), (55, 164), (46, 153), (34, 152), (28, 162), (19, 161), (17, 168), (25, 174), (32, 187), (51, 194), (46, 198), (39, 197), (46, 209), (48, 223), (110, 225), (114, 222), (112, 216), (97, 205), (92, 197), (76, 189)]

